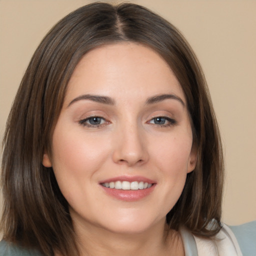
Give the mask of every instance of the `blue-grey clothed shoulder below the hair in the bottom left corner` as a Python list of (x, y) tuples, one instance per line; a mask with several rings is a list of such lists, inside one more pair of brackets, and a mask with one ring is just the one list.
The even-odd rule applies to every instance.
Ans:
[(1, 256), (41, 256), (36, 250), (27, 250), (13, 243), (0, 241), (0, 255)]

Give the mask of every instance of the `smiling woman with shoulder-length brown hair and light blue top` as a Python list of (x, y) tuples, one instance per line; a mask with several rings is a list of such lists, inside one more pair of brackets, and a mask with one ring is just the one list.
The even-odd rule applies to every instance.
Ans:
[(60, 20), (3, 144), (4, 255), (241, 255), (220, 223), (222, 150), (200, 65), (142, 6), (93, 3)]

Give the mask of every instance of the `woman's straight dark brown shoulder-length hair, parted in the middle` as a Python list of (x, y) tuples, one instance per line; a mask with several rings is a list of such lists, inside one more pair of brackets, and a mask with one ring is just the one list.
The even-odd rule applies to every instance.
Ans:
[[(61, 110), (67, 82), (90, 49), (120, 41), (147, 45), (175, 73), (186, 97), (197, 148), (197, 164), (187, 174), (182, 194), (166, 216), (211, 237), (220, 225), (223, 160), (219, 131), (200, 65), (180, 32), (150, 10), (132, 3), (92, 3), (61, 19), (36, 49), (13, 102), (3, 139), (1, 228), (4, 239), (78, 255), (68, 203), (52, 168), (42, 165)], [(212, 222), (212, 219), (215, 219)], [(211, 225), (209, 228), (208, 225)]]

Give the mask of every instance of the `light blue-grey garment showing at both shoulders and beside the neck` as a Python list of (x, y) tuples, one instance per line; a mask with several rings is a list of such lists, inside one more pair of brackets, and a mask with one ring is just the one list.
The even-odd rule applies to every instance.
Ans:
[[(238, 226), (229, 226), (234, 233), (243, 256), (256, 256), (256, 221)], [(185, 256), (197, 256), (197, 248), (191, 233), (181, 230)], [(36, 250), (27, 250), (20, 246), (0, 241), (0, 256), (42, 256)], [(204, 255), (210, 256), (210, 255)]]

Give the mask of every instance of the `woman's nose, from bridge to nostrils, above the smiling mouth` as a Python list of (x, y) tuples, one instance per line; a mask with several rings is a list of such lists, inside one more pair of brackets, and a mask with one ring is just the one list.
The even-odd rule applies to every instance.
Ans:
[(132, 166), (148, 160), (146, 138), (143, 128), (136, 124), (120, 127), (116, 132), (113, 161)]

